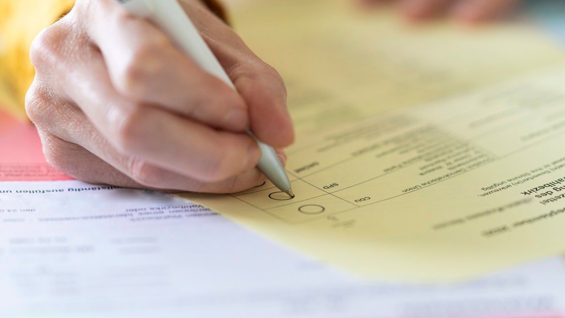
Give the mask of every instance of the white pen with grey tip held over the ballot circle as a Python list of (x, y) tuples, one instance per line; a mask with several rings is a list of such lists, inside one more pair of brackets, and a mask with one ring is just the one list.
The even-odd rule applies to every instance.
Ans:
[[(186, 55), (193, 59), (203, 70), (223, 80), (229, 87), (236, 89), (220, 62), (208, 48), (192, 21), (185, 14), (177, 0), (115, 0), (129, 14), (142, 16), (155, 23), (161, 31), (175, 42)], [(290, 181), (282, 166), (275, 149), (262, 143), (247, 131), (257, 141), (262, 156), (257, 167), (280, 191), (294, 197), (290, 189)]]

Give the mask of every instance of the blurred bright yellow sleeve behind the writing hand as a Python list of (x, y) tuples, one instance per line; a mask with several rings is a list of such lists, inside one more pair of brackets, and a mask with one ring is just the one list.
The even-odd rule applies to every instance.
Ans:
[(0, 107), (25, 118), (25, 93), (34, 68), (29, 46), (37, 34), (58, 20), (75, 0), (0, 0)]

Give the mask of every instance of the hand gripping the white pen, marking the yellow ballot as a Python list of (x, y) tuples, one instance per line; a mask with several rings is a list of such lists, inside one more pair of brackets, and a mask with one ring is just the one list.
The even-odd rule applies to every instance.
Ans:
[[(33, 42), (26, 110), (47, 161), (86, 182), (235, 192), (264, 177), (257, 143), (293, 141), (279, 74), (198, 0), (182, 2), (239, 93), (112, 0), (79, 0)], [(280, 153), (282, 156), (282, 153)]]

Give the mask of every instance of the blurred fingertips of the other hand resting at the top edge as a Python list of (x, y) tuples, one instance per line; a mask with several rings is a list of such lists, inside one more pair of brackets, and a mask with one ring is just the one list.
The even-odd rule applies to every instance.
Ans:
[[(366, 6), (393, 0), (358, 0)], [(519, 0), (398, 0), (402, 14), (411, 20), (423, 20), (449, 14), (457, 20), (475, 23), (501, 18), (512, 12)]]

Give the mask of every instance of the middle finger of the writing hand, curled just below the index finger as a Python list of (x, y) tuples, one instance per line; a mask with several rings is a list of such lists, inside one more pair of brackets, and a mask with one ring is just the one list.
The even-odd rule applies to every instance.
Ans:
[[(75, 72), (67, 94), (112, 147), (163, 169), (216, 182), (253, 169), (260, 149), (245, 133), (215, 130), (189, 118), (126, 100), (103, 72), (102, 58)], [(86, 83), (75, 85), (73, 83)]]

